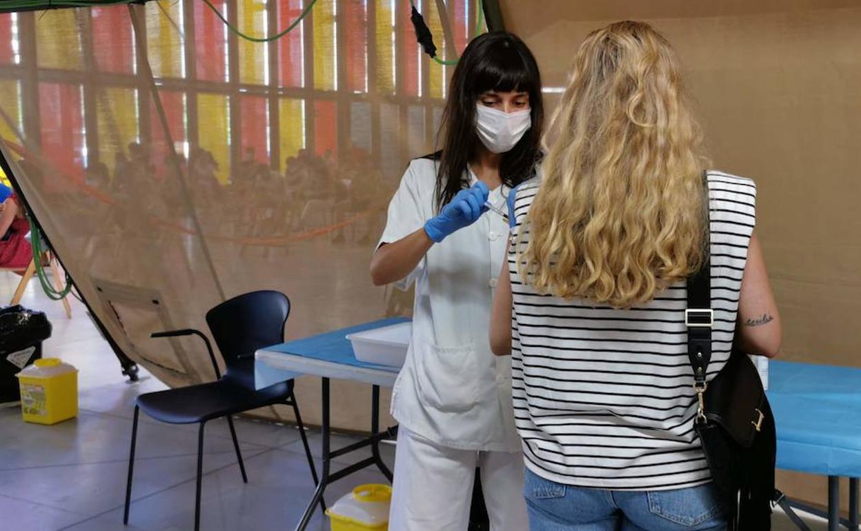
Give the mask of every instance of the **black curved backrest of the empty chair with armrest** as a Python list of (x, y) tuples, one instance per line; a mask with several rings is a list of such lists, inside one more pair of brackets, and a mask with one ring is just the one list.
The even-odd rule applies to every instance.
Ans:
[(289, 315), (287, 295), (269, 290), (238, 295), (207, 312), (209, 331), (227, 366), (226, 376), (250, 375), (253, 385), (254, 352), (284, 341)]

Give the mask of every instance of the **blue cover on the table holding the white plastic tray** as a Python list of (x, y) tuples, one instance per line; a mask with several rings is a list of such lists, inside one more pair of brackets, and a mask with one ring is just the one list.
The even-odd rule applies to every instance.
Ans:
[[(400, 371), (399, 367), (389, 367), (387, 365), (376, 365), (375, 363), (365, 363), (364, 361), (356, 360), (356, 355), (353, 353), (353, 345), (347, 339), (348, 334), (362, 332), (364, 330), (372, 330), (382, 328), (392, 324), (405, 323), (408, 318), (387, 318), (373, 321), (371, 323), (357, 324), (348, 328), (332, 330), (317, 336), (297, 339), (287, 343), (281, 343), (272, 347), (267, 347), (265, 350), (283, 352), (289, 355), (300, 355), (307, 358), (313, 358), (319, 361), (328, 361), (338, 363), (339, 365), (349, 367), (362, 367), (375, 370), (383, 370), (393, 374)], [(257, 388), (270, 386), (279, 381), (290, 380), (301, 376), (299, 373), (289, 373), (272, 367), (266, 367), (262, 363), (255, 363), (255, 383)]]

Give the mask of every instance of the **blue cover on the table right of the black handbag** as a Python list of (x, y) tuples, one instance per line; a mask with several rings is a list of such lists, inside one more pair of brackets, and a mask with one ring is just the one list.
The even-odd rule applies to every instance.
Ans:
[(769, 364), (777, 468), (861, 477), (861, 369)]

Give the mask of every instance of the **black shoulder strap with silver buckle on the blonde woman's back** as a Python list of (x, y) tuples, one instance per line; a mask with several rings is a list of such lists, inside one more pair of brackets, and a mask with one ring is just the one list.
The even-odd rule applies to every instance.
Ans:
[(715, 312), (711, 308), (711, 238), (709, 232), (709, 180), (703, 171), (703, 263), (696, 273), (688, 277), (688, 308), (684, 311), (684, 324), (688, 329), (688, 359), (694, 372), (694, 387), (700, 398), (702, 417), (703, 392), (706, 388), (706, 372), (711, 361), (711, 329), (715, 324)]

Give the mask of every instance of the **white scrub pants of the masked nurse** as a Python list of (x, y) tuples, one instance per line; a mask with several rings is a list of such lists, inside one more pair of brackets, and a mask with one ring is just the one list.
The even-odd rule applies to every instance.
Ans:
[(466, 531), (476, 466), (491, 531), (529, 529), (523, 454), (438, 446), (401, 426), (389, 531)]

